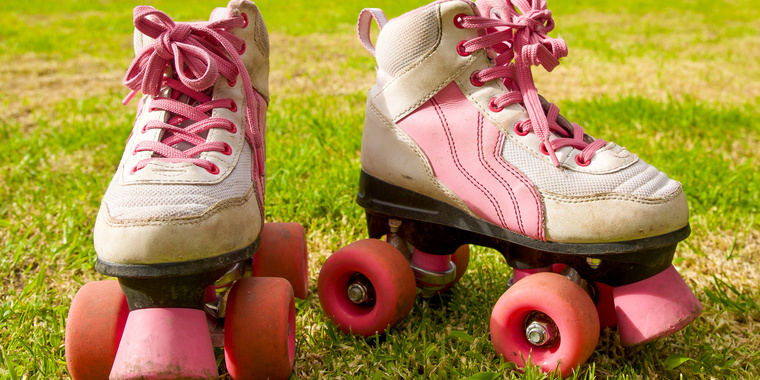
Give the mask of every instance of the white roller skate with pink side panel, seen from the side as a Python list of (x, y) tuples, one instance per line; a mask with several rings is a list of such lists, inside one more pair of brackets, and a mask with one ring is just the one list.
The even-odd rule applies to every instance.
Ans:
[(681, 185), (537, 93), (531, 66), (551, 71), (567, 54), (553, 27), (539, 0), (441, 0), (390, 21), (362, 11), (359, 38), (377, 60), (357, 196), (370, 239), (321, 270), (338, 328), (384, 332), (416, 293), (461, 277), (470, 244), (513, 268), (490, 327), (518, 366), (567, 376), (602, 327), (635, 345), (699, 315), (671, 265), (690, 234)]

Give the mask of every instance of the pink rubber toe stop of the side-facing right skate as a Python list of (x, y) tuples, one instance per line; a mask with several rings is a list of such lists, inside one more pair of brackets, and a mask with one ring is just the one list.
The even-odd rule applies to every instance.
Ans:
[(671, 335), (702, 312), (702, 304), (672, 265), (612, 292), (620, 341), (625, 346)]

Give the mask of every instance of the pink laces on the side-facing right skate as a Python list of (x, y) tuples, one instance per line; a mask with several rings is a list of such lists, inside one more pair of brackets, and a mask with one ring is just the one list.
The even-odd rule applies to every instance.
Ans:
[[(565, 146), (581, 150), (576, 162), (588, 165), (591, 157), (607, 142), (601, 139), (591, 143), (584, 141), (583, 128), (576, 123), (572, 123), (571, 136), (570, 131), (557, 123), (557, 106), (550, 103), (547, 112), (541, 107), (533, 82), (531, 66), (541, 65), (552, 71), (559, 65), (559, 59), (567, 56), (565, 41), (546, 35), (554, 29), (551, 11), (546, 9), (544, 0), (507, 2), (510, 5), (507, 7), (508, 14), (500, 15), (500, 18), (461, 15), (456, 19), (460, 27), (486, 30), (486, 34), (463, 42), (459, 47), (463, 53), (480, 49), (491, 49), (496, 53), (495, 66), (476, 72), (472, 79), (480, 83), (501, 79), (512, 90), (493, 99), (492, 109), (499, 111), (507, 105), (522, 103), (528, 111), (529, 120), (517, 128), (522, 133), (534, 131), (541, 139), (541, 151), (551, 157), (555, 166), (560, 166), (555, 150)], [(561, 137), (550, 141), (552, 133)]]

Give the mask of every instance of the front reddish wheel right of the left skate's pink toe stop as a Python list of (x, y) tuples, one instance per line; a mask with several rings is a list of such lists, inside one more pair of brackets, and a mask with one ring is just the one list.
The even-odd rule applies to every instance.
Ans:
[(227, 299), (224, 358), (233, 379), (287, 379), (296, 353), (293, 288), (282, 278), (243, 278)]

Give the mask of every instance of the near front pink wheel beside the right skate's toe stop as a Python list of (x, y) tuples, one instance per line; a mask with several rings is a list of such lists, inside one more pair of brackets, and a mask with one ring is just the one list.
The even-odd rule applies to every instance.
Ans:
[(536, 273), (507, 290), (491, 313), (491, 340), (505, 360), (530, 360), (563, 377), (584, 363), (599, 340), (599, 317), (586, 292), (551, 272)]

